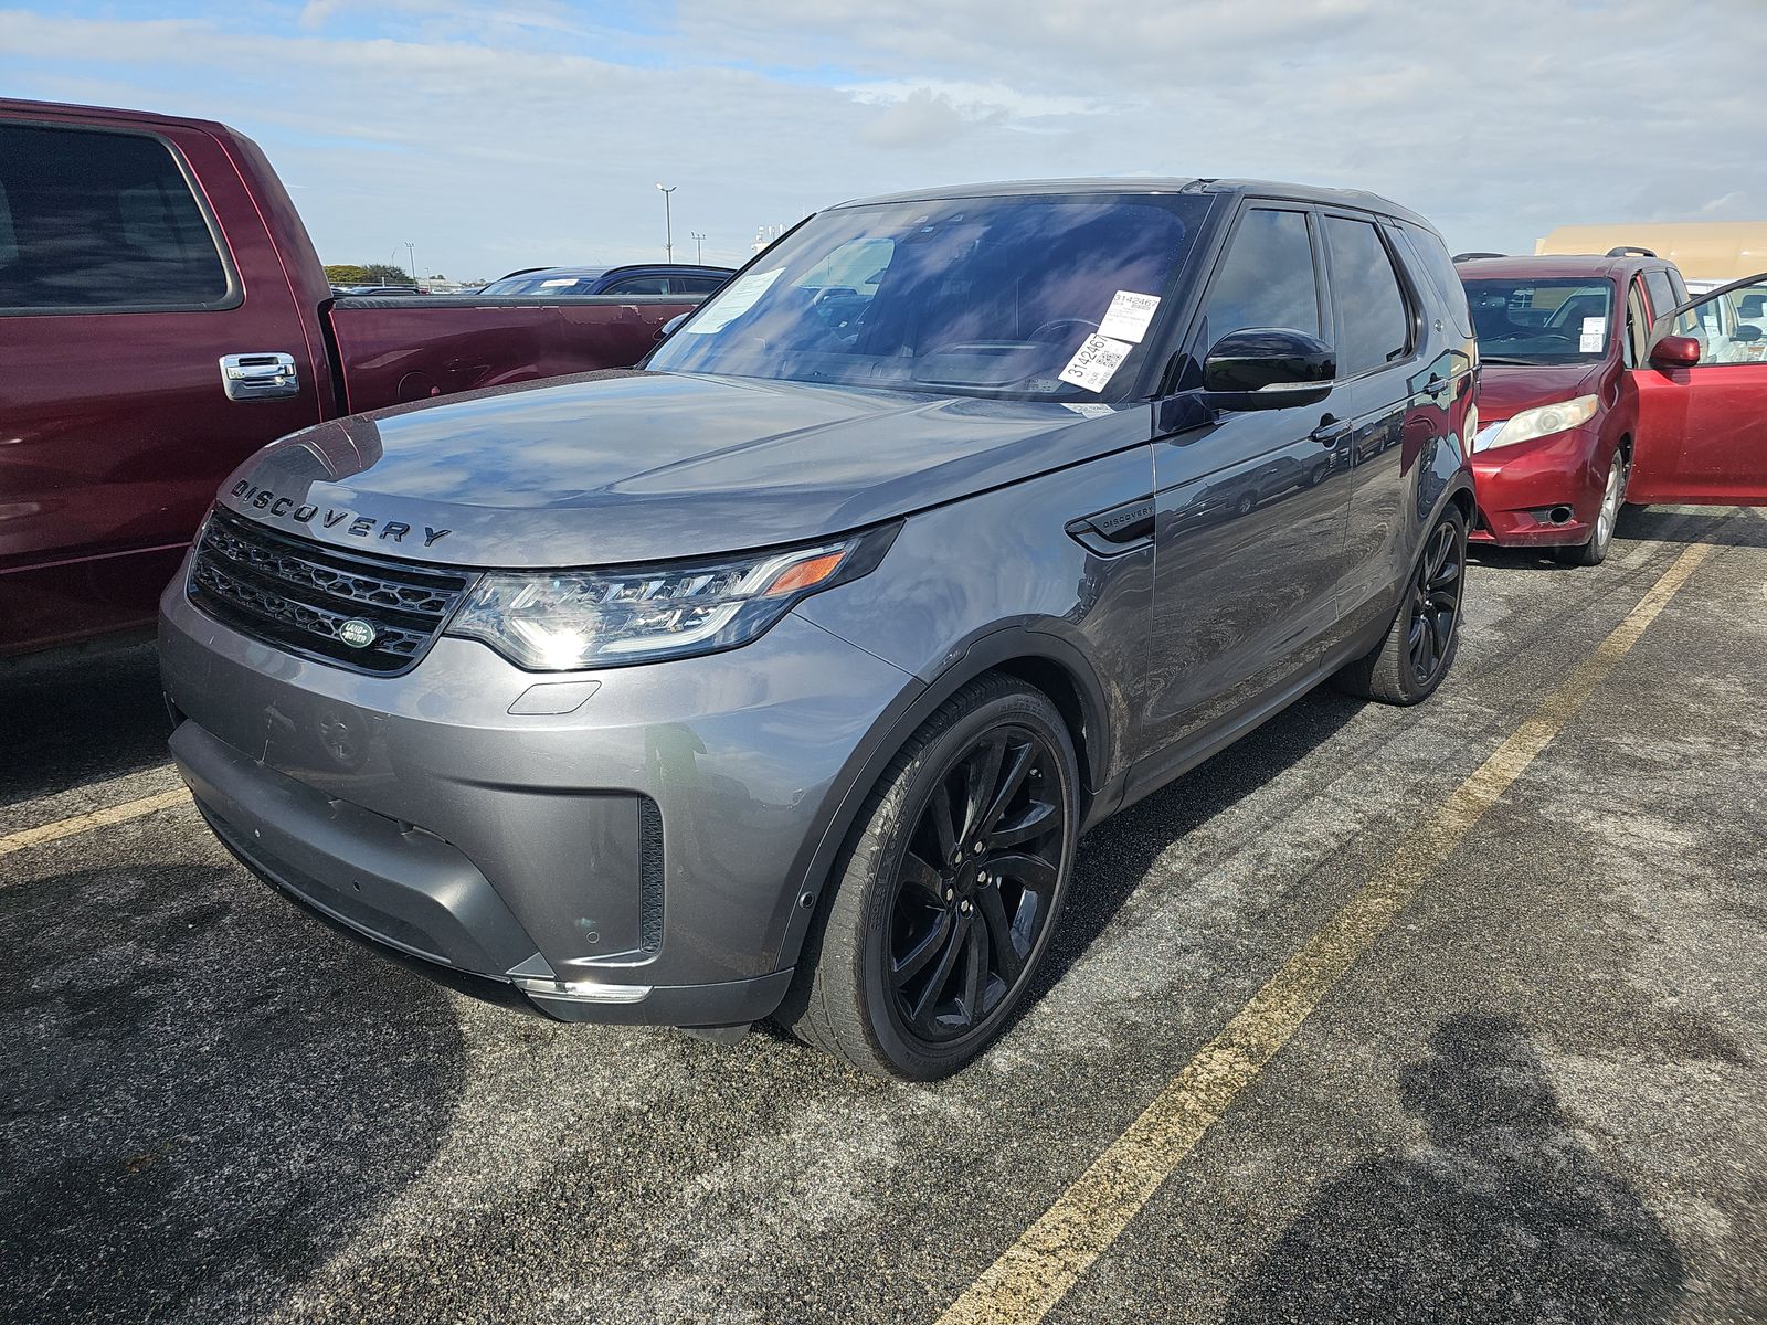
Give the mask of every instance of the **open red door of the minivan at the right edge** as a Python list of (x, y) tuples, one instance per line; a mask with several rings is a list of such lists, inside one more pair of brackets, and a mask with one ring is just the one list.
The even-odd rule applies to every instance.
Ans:
[(1652, 343), (1700, 344), (1689, 367), (1643, 364), (1627, 498), (1696, 505), (1767, 505), (1767, 272), (1748, 276), (1659, 316)]

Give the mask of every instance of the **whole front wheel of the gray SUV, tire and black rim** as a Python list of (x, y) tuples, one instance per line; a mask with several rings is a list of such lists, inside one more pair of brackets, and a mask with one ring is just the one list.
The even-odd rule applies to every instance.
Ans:
[(1055, 705), (981, 677), (884, 772), (779, 1019), (885, 1078), (931, 1081), (1007, 1026), (1067, 896), (1078, 763)]

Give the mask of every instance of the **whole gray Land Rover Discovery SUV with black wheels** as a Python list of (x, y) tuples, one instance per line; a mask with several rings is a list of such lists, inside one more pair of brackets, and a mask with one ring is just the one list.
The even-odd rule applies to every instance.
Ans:
[(1458, 638), (1475, 346), (1366, 193), (1064, 180), (825, 210), (636, 371), (288, 436), (163, 602), (247, 866), (569, 1021), (774, 1018), (937, 1078), (1081, 832)]

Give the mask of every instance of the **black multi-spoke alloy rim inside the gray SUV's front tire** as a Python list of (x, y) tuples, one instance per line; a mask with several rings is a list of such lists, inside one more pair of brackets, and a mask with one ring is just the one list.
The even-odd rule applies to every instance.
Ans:
[(981, 1028), (1053, 913), (1067, 852), (1058, 754), (1028, 726), (977, 737), (933, 784), (896, 869), (885, 986), (926, 1042)]

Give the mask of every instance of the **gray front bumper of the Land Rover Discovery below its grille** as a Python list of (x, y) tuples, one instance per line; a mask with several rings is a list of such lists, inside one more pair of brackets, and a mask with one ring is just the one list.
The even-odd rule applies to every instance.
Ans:
[[(726, 654), (534, 675), (442, 638), (403, 677), (161, 601), (171, 753), (284, 894), (449, 982), (573, 1021), (716, 1026), (783, 998), (802, 860), (906, 673), (788, 617)], [(532, 701), (530, 705), (532, 707)]]

